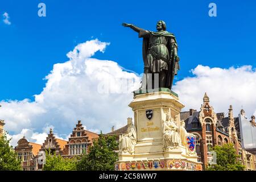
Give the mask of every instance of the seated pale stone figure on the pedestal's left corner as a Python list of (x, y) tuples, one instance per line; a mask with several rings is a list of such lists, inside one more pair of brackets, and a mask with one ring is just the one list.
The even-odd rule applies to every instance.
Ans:
[(134, 146), (137, 143), (137, 131), (133, 125), (133, 119), (127, 118), (128, 129), (125, 135), (122, 135), (119, 139), (119, 152), (134, 153)]

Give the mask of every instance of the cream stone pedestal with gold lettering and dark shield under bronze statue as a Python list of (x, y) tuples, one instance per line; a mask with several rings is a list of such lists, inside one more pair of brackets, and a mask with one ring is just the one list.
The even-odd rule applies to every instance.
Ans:
[[(163, 122), (166, 114), (172, 118), (177, 115), (180, 121), (180, 111), (184, 105), (171, 92), (154, 92), (134, 94), (134, 100), (129, 106), (134, 111), (134, 125), (137, 129), (137, 144), (134, 154), (119, 153), (115, 163), (117, 170), (196, 170), (201, 163), (197, 162), (196, 154), (188, 155), (188, 147), (182, 146), (164, 150)], [(177, 123), (180, 127), (180, 123)]]

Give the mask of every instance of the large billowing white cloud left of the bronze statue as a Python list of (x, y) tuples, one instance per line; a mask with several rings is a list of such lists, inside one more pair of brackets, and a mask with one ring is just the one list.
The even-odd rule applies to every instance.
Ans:
[(67, 53), (68, 61), (53, 65), (46, 76), (42, 93), (35, 101), (1, 101), (1, 118), (5, 129), (13, 133), (15, 143), (25, 135), (42, 143), (48, 131), (64, 138), (81, 120), (86, 129), (106, 133), (111, 126), (122, 127), (133, 112), (127, 106), (133, 100), (132, 91), (138, 89), (140, 78), (123, 71), (114, 61), (92, 58), (104, 52), (109, 43), (90, 40)]

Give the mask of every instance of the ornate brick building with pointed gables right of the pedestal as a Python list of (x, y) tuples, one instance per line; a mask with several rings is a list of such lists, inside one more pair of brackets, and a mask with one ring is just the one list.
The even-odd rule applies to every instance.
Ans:
[[(209, 102), (209, 97), (205, 93), (200, 111), (190, 109), (180, 113), (181, 120), (185, 121), (186, 130), (196, 135), (199, 162), (206, 168), (211, 159), (208, 153), (210, 148), (233, 143), (237, 154), (241, 156), (238, 160), (245, 165), (246, 170), (256, 170), (255, 155), (242, 149), (239, 121), (238, 117), (233, 116), (232, 105), (229, 106), (228, 117), (225, 117), (224, 113), (215, 113)], [(241, 110), (241, 114), (245, 112)]]

